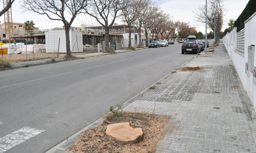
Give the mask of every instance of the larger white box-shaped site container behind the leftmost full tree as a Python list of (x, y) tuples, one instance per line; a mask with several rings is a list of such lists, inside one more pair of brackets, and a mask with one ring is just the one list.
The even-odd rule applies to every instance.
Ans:
[[(60, 38), (60, 43), (59, 43)], [(69, 30), (71, 52), (83, 52), (83, 37), (80, 30)], [(46, 53), (66, 53), (65, 30), (45, 31)]]

